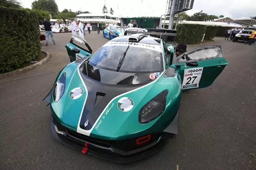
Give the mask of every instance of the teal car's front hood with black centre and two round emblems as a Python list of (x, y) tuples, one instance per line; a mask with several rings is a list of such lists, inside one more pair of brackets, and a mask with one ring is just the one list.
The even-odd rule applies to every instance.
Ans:
[[(140, 124), (138, 121), (140, 109), (163, 90), (175, 89), (173, 92), (169, 91), (169, 102), (166, 106), (180, 97), (180, 84), (177, 80), (166, 81), (166, 78), (160, 75), (147, 84), (103, 84), (84, 75), (79, 71), (79, 67), (74, 65), (71, 63), (61, 72), (60, 76), (64, 72), (67, 75), (65, 92), (58, 102), (54, 102), (52, 97), (51, 107), (57, 121), (77, 133), (119, 140), (162, 132), (170, 123), (170, 115), (174, 118), (177, 112), (179, 103), (174, 104), (177, 108), (173, 111), (165, 110), (170, 115), (162, 119), (163, 122), (156, 123), (158, 118), (147, 124)], [(177, 77), (173, 77), (175, 78)], [(72, 96), (77, 88), (82, 90)], [(129, 102), (122, 104), (122, 101), (127, 99)]]

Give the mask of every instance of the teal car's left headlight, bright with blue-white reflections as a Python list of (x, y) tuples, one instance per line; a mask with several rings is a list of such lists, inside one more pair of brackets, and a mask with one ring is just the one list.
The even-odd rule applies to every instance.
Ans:
[(64, 94), (66, 86), (66, 73), (64, 72), (56, 82), (53, 89), (53, 99), (55, 102), (59, 101)]

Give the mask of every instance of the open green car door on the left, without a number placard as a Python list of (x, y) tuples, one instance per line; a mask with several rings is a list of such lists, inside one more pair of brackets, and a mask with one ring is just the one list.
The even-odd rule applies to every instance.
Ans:
[(67, 49), (70, 62), (81, 58), (89, 58), (93, 53), (93, 50), (90, 48), (86, 40), (79, 36), (72, 36), (70, 42), (67, 43), (65, 47)]

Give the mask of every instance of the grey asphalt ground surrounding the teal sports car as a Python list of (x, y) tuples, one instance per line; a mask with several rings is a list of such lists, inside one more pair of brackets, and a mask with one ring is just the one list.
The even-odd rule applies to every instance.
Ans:
[[(118, 164), (52, 138), (42, 99), (69, 63), (64, 46), (71, 34), (54, 36), (55, 46), (41, 42), (52, 55), (47, 63), (0, 80), (0, 170), (256, 170), (256, 44), (215, 38), (211, 44), (222, 46), (229, 65), (212, 86), (183, 92), (177, 138), (153, 156)], [(102, 32), (85, 38), (94, 52), (108, 41)]]

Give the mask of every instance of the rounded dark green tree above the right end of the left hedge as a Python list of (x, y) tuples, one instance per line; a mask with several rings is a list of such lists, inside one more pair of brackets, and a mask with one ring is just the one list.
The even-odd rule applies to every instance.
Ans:
[(58, 5), (56, 4), (55, 0), (35, 0), (32, 2), (32, 9), (58, 12)]

